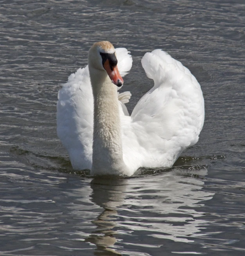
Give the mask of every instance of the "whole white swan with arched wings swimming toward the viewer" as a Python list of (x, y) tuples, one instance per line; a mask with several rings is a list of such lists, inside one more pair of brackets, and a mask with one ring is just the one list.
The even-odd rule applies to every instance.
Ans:
[(204, 98), (196, 78), (160, 49), (146, 53), (141, 63), (154, 86), (131, 116), (125, 106), (130, 92), (117, 90), (132, 56), (108, 41), (95, 43), (88, 65), (59, 90), (57, 134), (74, 169), (131, 176), (139, 167), (171, 167), (198, 141)]

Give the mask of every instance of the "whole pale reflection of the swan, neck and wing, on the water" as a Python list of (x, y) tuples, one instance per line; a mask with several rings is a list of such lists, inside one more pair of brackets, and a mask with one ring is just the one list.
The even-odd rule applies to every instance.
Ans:
[[(213, 193), (202, 189), (203, 180), (183, 174), (183, 170), (177, 170), (148, 177), (92, 180), (91, 201), (104, 208), (92, 222), (96, 230), (85, 240), (97, 246), (95, 255), (120, 255), (120, 247), (114, 244), (116, 237), (125, 233), (133, 236), (144, 231), (149, 238), (144, 244), (119, 241), (144, 247), (160, 247), (163, 239), (191, 242), (191, 237), (202, 235), (198, 232), (208, 224), (198, 218), (204, 212), (196, 208), (202, 206), (200, 201), (210, 200)], [(192, 174), (205, 175), (207, 171)], [(150, 237), (159, 238), (159, 244), (151, 244)]]

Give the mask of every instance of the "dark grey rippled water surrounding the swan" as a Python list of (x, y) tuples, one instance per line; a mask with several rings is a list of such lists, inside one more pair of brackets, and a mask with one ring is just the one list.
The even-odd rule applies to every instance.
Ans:
[[(1, 256), (244, 255), (243, 0), (1, 0), (0, 14)], [(132, 53), (130, 111), (152, 86), (147, 51), (200, 82), (204, 128), (174, 167), (103, 179), (72, 169), (57, 93), (99, 40)]]

